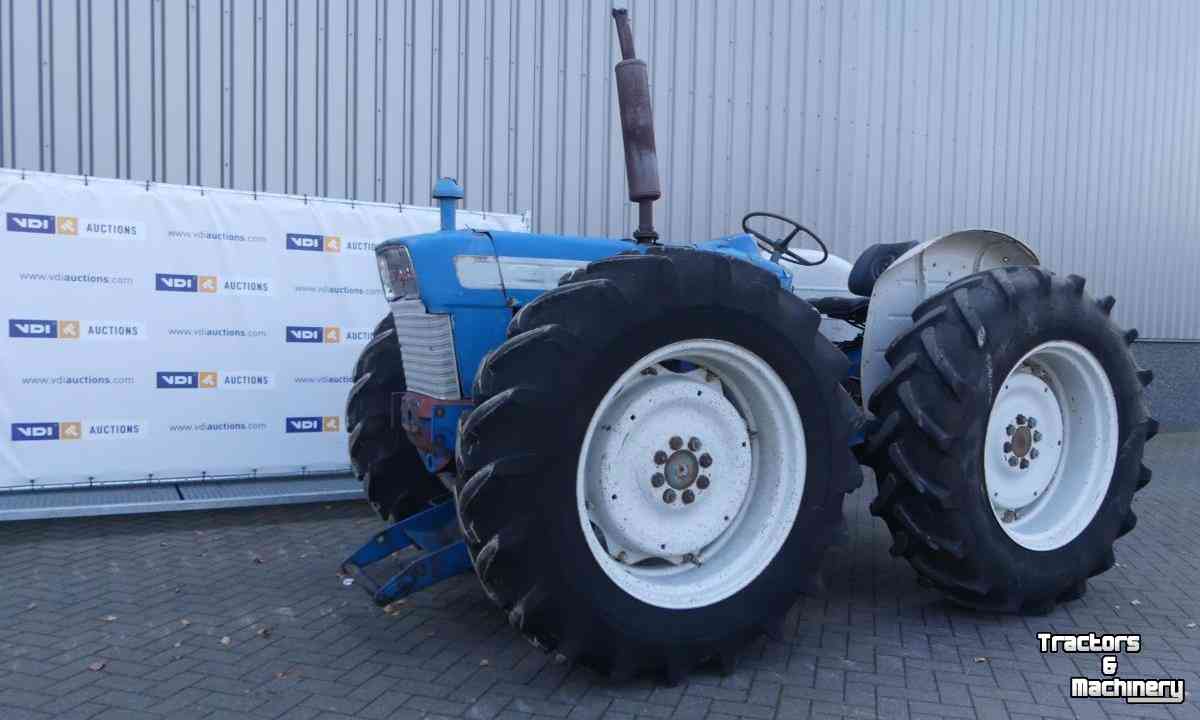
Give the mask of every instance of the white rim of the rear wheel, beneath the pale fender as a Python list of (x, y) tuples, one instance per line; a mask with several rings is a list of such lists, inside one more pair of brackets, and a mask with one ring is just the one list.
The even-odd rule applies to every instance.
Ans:
[(1000, 527), (1049, 551), (1096, 517), (1117, 457), (1117, 403), (1108, 373), (1079, 343), (1052, 341), (1004, 378), (988, 419), (984, 485)]

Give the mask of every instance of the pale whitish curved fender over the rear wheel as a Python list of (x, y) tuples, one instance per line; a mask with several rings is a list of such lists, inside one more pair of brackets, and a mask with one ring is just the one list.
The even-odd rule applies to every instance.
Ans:
[(863, 335), (863, 404), (890, 372), (884, 353), (913, 324), (912, 311), (946, 286), (982, 270), (1038, 265), (1033, 248), (996, 230), (956, 230), (904, 253), (875, 281)]

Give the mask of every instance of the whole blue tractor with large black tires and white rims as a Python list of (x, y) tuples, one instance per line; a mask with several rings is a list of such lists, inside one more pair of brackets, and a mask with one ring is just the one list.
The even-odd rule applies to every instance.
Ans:
[[(344, 569), (383, 604), (473, 568), (559, 659), (677, 680), (732, 665), (818, 586), (862, 462), (893, 554), (953, 601), (1038, 613), (1082, 594), (1134, 526), (1157, 431), (1112, 299), (991, 230), (853, 265), (770, 214), (661, 242), (647, 70), (613, 16), (637, 230), (460, 229), (442, 180), (442, 229), (378, 247), (390, 312), (347, 427), (396, 524)], [(408, 545), (426, 553), (371, 583), (362, 568)]]

